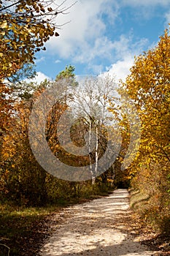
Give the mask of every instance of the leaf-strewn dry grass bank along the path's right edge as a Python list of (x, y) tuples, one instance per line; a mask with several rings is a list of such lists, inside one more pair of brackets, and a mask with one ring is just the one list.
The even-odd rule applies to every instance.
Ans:
[[(130, 206), (133, 209), (134, 224), (141, 233), (141, 242), (158, 251), (160, 256), (170, 255), (170, 219), (169, 216), (158, 211), (156, 195), (149, 196), (147, 191), (129, 189), (131, 193)], [(163, 219), (161, 219), (163, 214)]]

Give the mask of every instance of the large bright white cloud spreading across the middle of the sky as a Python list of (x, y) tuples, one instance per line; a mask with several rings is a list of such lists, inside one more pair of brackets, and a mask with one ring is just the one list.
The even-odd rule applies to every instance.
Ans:
[[(139, 4), (140, 1), (131, 0), (129, 4)], [(67, 0), (69, 6), (73, 0)], [(93, 70), (101, 69), (102, 63), (96, 66), (93, 60), (101, 58), (104, 61), (118, 61), (125, 59), (125, 55), (131, 55), (128, 38), (122, 35), (112, 41), (107, 36), (107, 23), (115, 29), (114, 22), (120, 12), (120, 7), (126, 1), (117, 0), (80, 0), (69, 11), (68, 15), (60, 15), (57, 18), (59, 24), (70, 23), (61, 27), (60, 37), (52, 37), (47, 42), (47, 51), (58, 54), (60, 58), (72, 59), (72, 61), (93, 66)], [(146, 1), (147, 3), (147, 1)], [(141, 43), (141, 42), (139, 42)], [(133, 45), (134, 46), (134, 45)], [(139, 46), (136, 46), (139, 48)], [(130, 51), (130, 53), (129, 53)], [(136, 52), (133, 52), (136, 54)], [(114, 59), (112, 59), (114, 56)], [(127, 56), (126, 56), (127, 57)]]

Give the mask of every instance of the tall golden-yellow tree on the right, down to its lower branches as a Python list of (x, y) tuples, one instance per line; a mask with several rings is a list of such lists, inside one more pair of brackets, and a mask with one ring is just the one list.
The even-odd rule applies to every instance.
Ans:
[(170, 36), (166, 30), (155, 48), (135, 59), (123, 83), (142, 121), (139, 153), (130, 167), (133, 185), (150, 195), (146, 216), (161, 228), (170, 214), (166, 207), (170, 202), (169, 59)]

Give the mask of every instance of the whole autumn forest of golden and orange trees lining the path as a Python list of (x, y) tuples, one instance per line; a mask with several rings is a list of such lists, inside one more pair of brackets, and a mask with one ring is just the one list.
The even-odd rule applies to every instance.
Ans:
[[(7, 6), (0, 1), (0, 244), (9, 248), (15, 244), (12, 255), (19, 255), (22, 237), (31, 237), (31, 228), (45, 216), (58, 208), (108, 195), (115, 188), (129, 189), (133, 211), (148, 228), (169, 236), (169, 29), (164, 31), (155, 48), (135, 57), (125, 83), (120, 81), (116, 85), (108, 75), (85, 79), (83, 87), (76, 79), (75, 68), (69, 64), (56, 74), (55, 80), (32, 83), (26, 78), (36, 75), (35, 53), (45, 50), (45, 42), (50, 37), (58, 37), (53, 18), (63, 10), (44, 6), (43, 1), (9, 2)], [(61, 98), (45, 116), (45, 140), (53, 156), (72, 166), (75, 173), (68, 173), (68, 169), (66, 175), (59, 165), (58, 170), (49, 172), (39, 164), (32, 151), (34, 147), (37, 155), (41, 154), (39, 138), (35, 133), (30, 143), (29, 135), (30, 116), (36, 101), (53, 86), (59, 90), (61, 83), (64, 83)], [(118, 94), (124, 99), (121, 104), (117, 103)], [(57, 125), (68, 105), (74, 105), (76, 116), (70, 137), (76, 148), (83, 148), (87, 143), (88, 152), (94, 140), (89, 154), (71, 154), (62, 148), (59, 133), (65, 134), (66, 128), (61, 127), (58, 132)], [(131, 105), (138, 113), (140, 130)], [(139, 143), (136, 152), (128, 151), (132, 135), (128, 116)], [(32, 124), (32, 131), (37, 130), (36, 125)], [(69, 138), (64, 139), (67, 140), (64, 145), (69, 148)], [(111, 155), (112, 146), (107, 151), (109, 141), (116, 142)], [(74, 149), (72, 145), (71, 148)], [(99, 160), (106, 155), (107, 161), (100, 165)], [(80, 168), (87, 166), (81, 178)]]

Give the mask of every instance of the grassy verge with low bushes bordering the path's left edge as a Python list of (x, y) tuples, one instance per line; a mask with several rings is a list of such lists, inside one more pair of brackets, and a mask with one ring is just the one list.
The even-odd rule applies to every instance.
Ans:
[[(63, 182), (64, 183), (64, 182)], [(23, 256), (36, 255), (39, 247), (47, 236), (60, 225), (64, 215), (64, 208), (77, 203), (85, 203), (112, 192), (112, 187), (94, 186), (91, 182), (83, 182), (70, 186), (67, 191), (63, 188), (62, 194), (53, 202), (44, 206), (18, 206), (14, 201), (1, 203), (0, 206), (0, 255)], [(54, 214), (59, 214), (53, 223)]]

